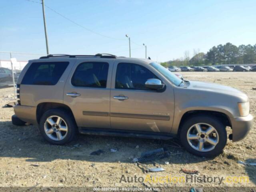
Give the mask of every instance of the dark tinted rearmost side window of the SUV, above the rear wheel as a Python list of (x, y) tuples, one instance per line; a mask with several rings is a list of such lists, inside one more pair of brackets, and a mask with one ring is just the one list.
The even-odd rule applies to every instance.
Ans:
[(55, 85), (66, 70), (69, 62), (36, 62), (28, 68), (21, 84)]

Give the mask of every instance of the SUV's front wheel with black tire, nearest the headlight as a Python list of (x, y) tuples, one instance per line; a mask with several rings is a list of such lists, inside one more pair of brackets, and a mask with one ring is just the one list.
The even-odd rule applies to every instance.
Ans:
[(222, 152), (227, 142), (227, 132), (218, 118), (198, 115), (182, 125), (180, 140), (188, 152), (211, 157)]

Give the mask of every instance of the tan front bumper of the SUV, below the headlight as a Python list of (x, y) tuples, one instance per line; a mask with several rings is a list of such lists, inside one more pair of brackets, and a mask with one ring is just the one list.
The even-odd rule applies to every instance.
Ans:
[(245, 117), (230, 118), (232, 126), (233, 142), (242, 140), (250, 131), (253, 125), (253, 116), (249, 114)]

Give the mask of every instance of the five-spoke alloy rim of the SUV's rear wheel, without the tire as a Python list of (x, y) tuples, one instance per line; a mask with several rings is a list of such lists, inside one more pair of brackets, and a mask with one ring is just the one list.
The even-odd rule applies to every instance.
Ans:
[(61, 117), (50, 116), (44, 123), (44, 131), (50, 139), (60, 141), (67, 136), (68, 126)]

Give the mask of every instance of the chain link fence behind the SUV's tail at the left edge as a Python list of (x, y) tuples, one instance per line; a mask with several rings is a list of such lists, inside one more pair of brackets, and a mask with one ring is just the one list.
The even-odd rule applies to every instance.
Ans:
[(0, 100), (16, 100), (16, 82), (28, 60), (42, 54), (0, 51)]

